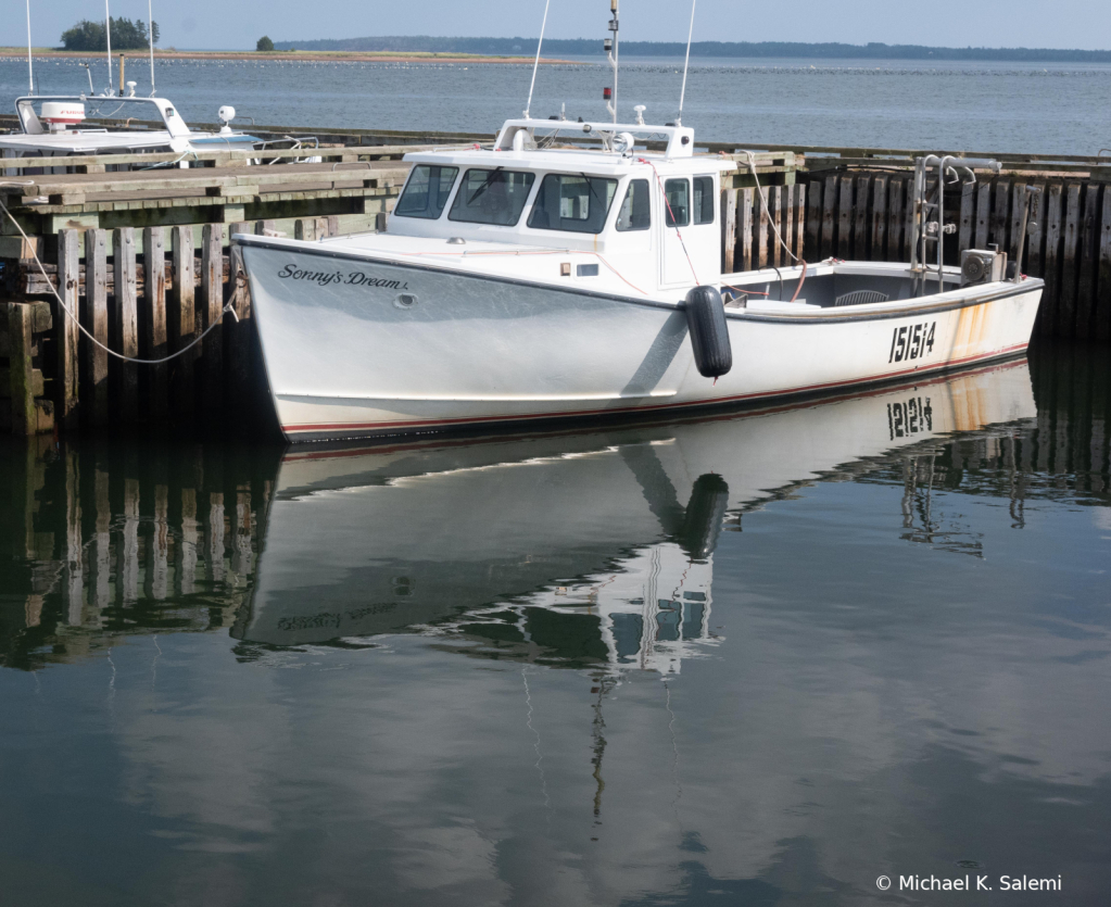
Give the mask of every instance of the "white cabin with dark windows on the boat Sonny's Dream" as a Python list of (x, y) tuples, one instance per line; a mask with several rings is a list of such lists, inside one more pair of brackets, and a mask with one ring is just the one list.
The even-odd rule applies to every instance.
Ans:
[(407, 155), (388, 233), (582, 252), (567, 276), (609, 269), (645, 291), (715, 283), (721, 171), (735, 163), (693, 144), (682, 127), (509, 120), (493, 148)]

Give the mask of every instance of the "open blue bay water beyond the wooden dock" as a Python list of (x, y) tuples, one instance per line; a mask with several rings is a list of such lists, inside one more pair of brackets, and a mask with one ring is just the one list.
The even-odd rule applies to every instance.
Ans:
[[(92, 64), (102, 90), (107, 67)], [(628, 61), (622, 116), (643, 103), (650, 122), (673, 120), (681, 69)], [(78, 60), (43, 59), (36, 73), (42, 93), (88, 90)], [(571, 119), (604, 119), (607, 73), (597, 61), (543, 68), (533, 116), (565, 103)], [(159, 92), (192, 122), (213, 122), (230, 103), (262, 124), (479, 132), (520, 116), (530, 76), (513, 64), (277, 60), (170, 60), (156, 72)], [(149, 91), (139, 61), (128, 78)], [(0, 60), (0, 99), (26, 92), (26, 61)], [(1095, 155), (1111, 144), (1111, 66), (705, 59), (691, 68), (683, 122), (704, 140)]]

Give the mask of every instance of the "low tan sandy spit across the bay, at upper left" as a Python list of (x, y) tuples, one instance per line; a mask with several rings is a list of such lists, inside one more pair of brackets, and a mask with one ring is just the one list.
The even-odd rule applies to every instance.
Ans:
[[(32, 48), (34, 59), (58, 59), (60, 57), (92, 57), (103, 59), (104, 51), (58, 50), (56, 48)], [(112, 58), (126, 57), (129, 60), (147, 60), (148, 51), (121, 50), (112, 51)], [(0, 59), (27, 59), (27, 48), (0, 48)], [(529, 63), (532, 57), (501, 57), (480, 53), (439, 53), (439, 52), (393, 52), (380, 50), (154, 50), (156, 60), (327, 60), (328, 62), (376, 62), (376, 63)], [(575, 63), (577, 60), (553, 60), (540, 58), (541, 63)]]

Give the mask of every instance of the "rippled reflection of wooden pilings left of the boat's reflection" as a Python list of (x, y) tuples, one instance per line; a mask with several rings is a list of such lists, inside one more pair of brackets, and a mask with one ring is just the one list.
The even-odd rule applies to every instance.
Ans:
[[(229, 454), (211, 447), (202, 461), (193, 449), (167, 448), (140, 458), (134, 447), (59, 446), (44, 437), (11, 451), (0, 464), (0, 541), (11, 540), (3, 556), (24, 569), (12, 575), (19, 617), (6, 624), (0, 612), (0, 665), (106, 649), (121, 632), (228, 626), (262, 525), (251, 507), (264, 500), (251, 489), (272, 476), (257, 476), (252, 456)], [(224, 459), (232, 467), (226, 486)], [(201, 558), (210, 580), (203, 587)], [(198, 591), (203, 599), (191, 600)], [(172, 617), (148, 605), (168, 601)], [(98, 644), (100, 635), (108, 636)]]

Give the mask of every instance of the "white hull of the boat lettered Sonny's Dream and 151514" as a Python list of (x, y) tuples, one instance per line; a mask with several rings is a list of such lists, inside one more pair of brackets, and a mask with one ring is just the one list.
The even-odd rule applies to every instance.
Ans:
[[(290, 440), (763, 401), (1022, 353), (1041, 282), (803, 316), (727, 310), (733, 368), (694, 363), (679, 299), (246, 241)], [(867, 310), (865, 310), (867, 309)]]

